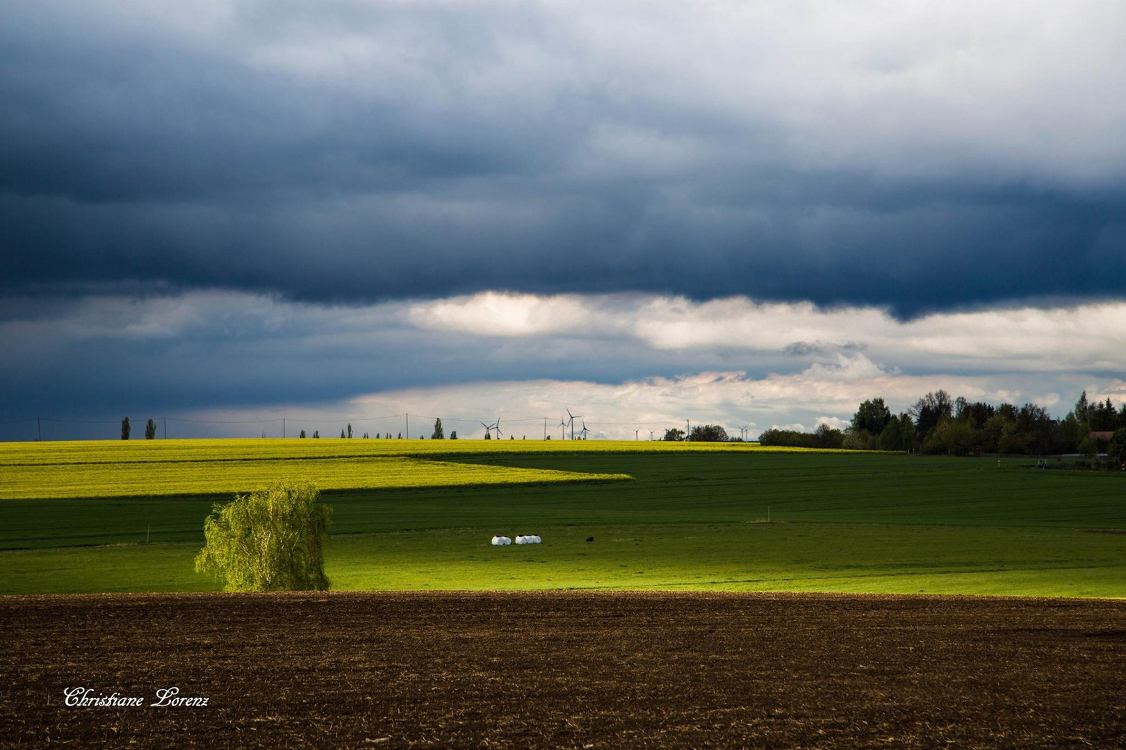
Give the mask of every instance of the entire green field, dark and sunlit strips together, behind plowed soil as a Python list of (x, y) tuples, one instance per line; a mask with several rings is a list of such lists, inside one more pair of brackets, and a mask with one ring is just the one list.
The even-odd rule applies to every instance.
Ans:
[[(194, 457), (180, 463), (222, 472), (247, 463), (330, 462), (324, 453), (286, 458), (284, 451), (296, 449), (282, 441), (230, 441), (220, 446), (230, 459), (224, 461), (215, 455), (215, 441), (199, 442), (206, 445), (179, 446), (180, 457)], [(1126, 596), (1126, 533), (1108, 533), (1126, 532), (1120, 475), (1038, 471), (1026, 468), (1027, 460), (1004, 461), (999, 469), (995, 460), (981, 459), (749, 445), (674, 450), (645, 442), (632, 452), (629, 443), (457, 441), (456, 450), (443, 454), (431, 450), (438, 441), (337, 440), (320, 441), (315, 451), (379, 442), (406, 444), (400, 455), (426, 443), (428, 457), (477, 480), (426, 486), (406, 476), (394, 481), (414, 486), (325, 491), (334, 509), (327, 552), (334, 588)], [(517, 450), (521, 443), (527, 450)], [(91, 463), (120, 462), (123, 453), (108, 444), (115, 448), (92, 454), (113, 458)], [(72, 462), (82, 454), (73, 445), (66, 449)], [(606, 450), (596, 450), (600, 445)], [(27, 455), (20, 448), (0, 450), (0, 472), (28, 463), (12, 460)], [(154, 451), (141, 452), (149, 449), (135, 455), (152, 461)], [(342, 464), (360, 458), (338, 454), (349, 457)], [(164, 463), (151, 468), (172, 471)], [(420, 466), (429, 463), (438, 462)], [(510, 470), (529, 478), (561, 472), (633, 479), (482, 484), (516, 476)], [(0, 500), (0, 593), (214, 588), (194, 572), (191, 560), (215, 499), (55, 494)], [(760, 523), (768, 514), (772, 523)], [(544, 543), (493, 548), (494, 533), (538, 533)], [(146, 535), (153, 543), (141, 543)]]

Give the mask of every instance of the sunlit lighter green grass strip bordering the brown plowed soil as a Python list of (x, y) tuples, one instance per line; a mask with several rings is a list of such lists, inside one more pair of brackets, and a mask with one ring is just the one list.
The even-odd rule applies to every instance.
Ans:
[[(334, 589), (664, 589), (1126, 596), (1126, 536), (1066, 528), (874, 524), (546, 526), (494, 548), (483, 530), (337, 535)], [(595, 542), (584, 542), (593, 536)], [(194, 591), (199, 545), (0, 552), (0, 594)]]

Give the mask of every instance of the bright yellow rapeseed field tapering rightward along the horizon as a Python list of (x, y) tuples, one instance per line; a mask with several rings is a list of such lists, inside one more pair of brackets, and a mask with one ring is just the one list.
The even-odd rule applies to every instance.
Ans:
[(628, 479), (477, 466), (443, 458), (511, 453), (805, 451), (661, 441), (216, 439), (0, 443), (0, 499), (245, 493), (279, 478), (321, 489)]

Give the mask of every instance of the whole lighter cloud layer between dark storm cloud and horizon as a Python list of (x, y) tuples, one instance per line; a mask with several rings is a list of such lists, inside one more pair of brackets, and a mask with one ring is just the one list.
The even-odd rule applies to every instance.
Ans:
[[(1092, 400), (1126, 400), (1126, 381), (1105, 372), (1126, 369), (1126, 304), (903, 323), (874, 308), (745, 298), (488, 292), (328, 307), (191, 292), (88, 298), (35, 319), (8, 316), (0, 324), (11, 354), (0, 365), (6, 377), (70, 362), (73, 346), (111, 343), (109, 362), (135, 350), (167, 383), (181, 374), (193, 383), (186, 367), (205, 370), (220, 392), (225, 380), (260, 382), (275, 394), (270, 418), (305, 419), (324, 434), (338, 433), (341, 419), (417, 413), (426, 434), (423, 423), (434, 417), (455, 421), (448, 428), (465, 436), (480, 431), (480, 421), (500, 417), (506, 433), (534, 437), (542, 436), (545, 416), (557, 434), (568, 407), (586, 418), (592, 437), (660, 432), (686, 419), (732, 433), (750, 426), (757, 434), (776, 425), (840, 427), (865, 399), (883, 397), (893, 410), (905, 410), (939, 388), (991, 403), (1031, 400), (1057, 416), (1082, 389)], [(171, 359), (162, 364), (166, 350)], [(645, 377), (654, 372), (662, 374)], [(372, 387), (373, 379), (390, 385)], [(410, 382), (430, 385), (402, 387)], [(222, 418), (235, 418), (231, 414), (254, 418), (259, 412), (234, 408)], [(329, 421), (318, 423), (318, 415)], [(399, 424), (394, 417), (386, 428), (397, 432)], [(383, 432), (375, 423), (363, 426)]]

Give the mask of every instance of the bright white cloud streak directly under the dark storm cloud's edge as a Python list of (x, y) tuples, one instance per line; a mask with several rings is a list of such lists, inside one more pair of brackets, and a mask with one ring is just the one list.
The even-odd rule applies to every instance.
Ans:
[[(636, 338), (656, 350), (742, 350), (832, 358), (863, 350), (895, 367), (1003, 371), (1126, 369), (1126, 304), (941, 313), (900, 322), (879, 308), (819, 309), (744, 297), (691, 302), (656, 296), (497, 295), (411, 308), (430, 329), (480, 336), (552, 334)], [(838, 377), (854, 377), (854, 370)], [(870, 373), (856, 373), (865, 377)]]

